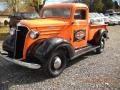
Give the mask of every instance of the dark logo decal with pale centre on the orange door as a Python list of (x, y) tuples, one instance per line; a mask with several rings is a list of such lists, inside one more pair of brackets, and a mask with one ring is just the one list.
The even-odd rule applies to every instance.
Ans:
[(86, 30), (77, 30), (74, 32), (74, 41), (84, 40), (86, 36)]

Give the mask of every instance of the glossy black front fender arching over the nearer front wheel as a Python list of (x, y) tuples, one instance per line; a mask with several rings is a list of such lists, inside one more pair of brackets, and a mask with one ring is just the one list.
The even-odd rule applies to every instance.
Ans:
[(32, 53), (32, 56), (44, 63), (57, 49), (63, 49), (69, 59), (75, 53), (72, 45), (67, 40), (58, 37), (35, 42), (28, 50), (28, 56), (31, 56), (30, 54)]

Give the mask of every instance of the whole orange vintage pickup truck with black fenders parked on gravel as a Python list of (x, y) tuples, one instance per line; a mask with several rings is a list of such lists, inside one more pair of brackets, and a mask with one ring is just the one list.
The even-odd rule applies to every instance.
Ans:
[(3, 43), (7, 56), (1, 52), (2, 58), (27, 68), (43, 68), (56, 77), (70, 60), (93, 50), (104, 51), (107, 25), (90, 24), (85, 4), (45, 5), (40, 17), (11, 28)]

